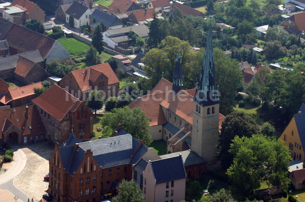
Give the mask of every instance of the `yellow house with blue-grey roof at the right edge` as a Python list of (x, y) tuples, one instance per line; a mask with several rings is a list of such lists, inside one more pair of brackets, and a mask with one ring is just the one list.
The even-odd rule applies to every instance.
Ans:
[(303, 103), (297, 114), (293, 115), (291, 121), (280, 136), (284, 145), (289, 147), (293, 160), (299, 159), (305, 162), (305, 104)]

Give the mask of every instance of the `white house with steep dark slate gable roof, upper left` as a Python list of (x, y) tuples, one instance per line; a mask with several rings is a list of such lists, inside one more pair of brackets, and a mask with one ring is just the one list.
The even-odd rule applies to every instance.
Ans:
[(74, 1), (66, 11), (66, 23), (69, 23), (70, 14), (73, 15), (74, 27), (80, 29), (81, 26), (90, 23), (89, 17), (92, 11), (87, 6)]

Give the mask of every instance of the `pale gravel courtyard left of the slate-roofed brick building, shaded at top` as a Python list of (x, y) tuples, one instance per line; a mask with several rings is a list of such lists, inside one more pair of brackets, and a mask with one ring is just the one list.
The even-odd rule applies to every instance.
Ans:
[(49, 172), (48, 159), (53, 150), (46, 142), (29, 144), (22, 148), (27, 155), (27, 165), (14, 179), (14, 185), (29, 197), (34, 198), (34, 201), (39, 201), (48, 188), (48, 181), (44, 181), (43, 177)]

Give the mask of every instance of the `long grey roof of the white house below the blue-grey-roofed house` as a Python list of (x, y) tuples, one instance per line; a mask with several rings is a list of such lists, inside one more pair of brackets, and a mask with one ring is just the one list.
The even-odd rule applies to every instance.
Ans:
[(110, 35), (125, 34), (133, 31), (139, 37), (148, 37), (149, 29), (146, 25), (133, 25), (127, 27), (121, 27), (113, 30), (107, 30)]

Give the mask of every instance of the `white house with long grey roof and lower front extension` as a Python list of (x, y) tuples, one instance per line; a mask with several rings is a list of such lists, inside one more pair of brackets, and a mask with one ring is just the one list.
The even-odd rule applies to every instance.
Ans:
[(115, 47), (126, 47), (126, 43), (131, 40), (127, 34), (132, 31), (144, 40), (148, 39), (149, 29), (146, 25), (133, 25), (121, 27), (103, 32), (103, 41), (107, 46), (115, 49)]

